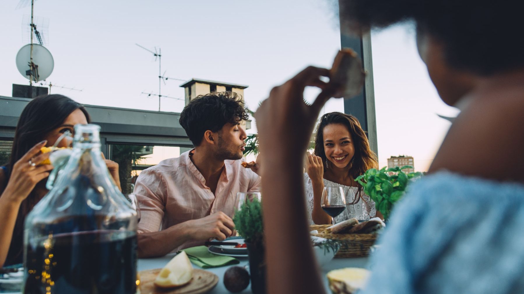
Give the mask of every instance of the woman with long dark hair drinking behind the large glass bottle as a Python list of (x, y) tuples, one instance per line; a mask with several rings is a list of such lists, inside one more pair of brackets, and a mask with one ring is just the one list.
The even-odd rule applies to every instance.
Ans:
[[(0, 267), (22, 262), (25, 217), (48, 192), (46, 180), (53, 166), (39, 164), (50, 154), (40, 149), (52, 146), (65, 131), (74, 133), (74, 125), (90, 121), (81, 104), (58, 94), (36, 97), (22, 111), (9, 162), (0, 168)], [(67, 139), (58, 143), (68, 145)], [(119, 187), (118, 164), (106, 164)]]

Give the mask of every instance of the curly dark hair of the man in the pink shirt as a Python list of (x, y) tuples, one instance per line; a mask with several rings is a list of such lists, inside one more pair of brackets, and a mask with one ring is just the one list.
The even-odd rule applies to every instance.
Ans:
[(212, 92), (196, 96), (180, 114), (180, 125), (193, 145), (202, 143), (204, 132), (217, 132), (226, 123), (238, 123), (249, 119), (242, 96), (235, 92)]

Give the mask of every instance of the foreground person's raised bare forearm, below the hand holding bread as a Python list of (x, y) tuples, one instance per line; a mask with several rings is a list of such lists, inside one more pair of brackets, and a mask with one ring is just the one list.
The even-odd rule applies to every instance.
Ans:
[(324, 293), (310, 246), (301, 159), (264, 163), (272, 171), (262, 177), (268, 293)]

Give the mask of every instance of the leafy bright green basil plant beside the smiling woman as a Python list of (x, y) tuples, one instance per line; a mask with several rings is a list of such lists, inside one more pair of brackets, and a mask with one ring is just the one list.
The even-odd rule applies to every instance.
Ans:
[(395, 203), (404, 196), (406, 187), (416, 178), (422, 176), (420, 172), (405, 173), (402, 169), (413, 168), (405, 165), (402, 167), (370, 168), (355, 180), (364, 187), (364, 192), (375, 201), (375, 207), (384, 219), (389, 218), (389, 213)]

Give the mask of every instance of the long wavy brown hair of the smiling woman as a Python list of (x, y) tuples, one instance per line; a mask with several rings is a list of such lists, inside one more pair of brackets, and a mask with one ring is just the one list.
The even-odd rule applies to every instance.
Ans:
[(330, 112), (320, 118), (318, 127), (316, 128), (315, 137), (315, 155), (320, 156), (326, 167), (326, 154), (324, 152), (324, 128), (333, 123), (340, 123), (350, 131), (351, 138), (353, 138), (353, 145), (355, 147), (355, 154), (353, 155), (353, 165), (350, 169), (350, 176), (355, 179), (359, 175), (364, 174), (369, 168), (378, 168), (377, 155), (369, 149), (369, 141), (367, 140), (366, 132), (362, 129), (358, 119), (352, 115), (346, 115), (342, 112)]

